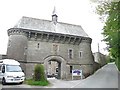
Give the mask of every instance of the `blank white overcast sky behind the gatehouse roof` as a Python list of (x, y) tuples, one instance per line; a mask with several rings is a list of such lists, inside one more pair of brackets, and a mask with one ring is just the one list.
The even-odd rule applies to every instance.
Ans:
[(58, 14), (58, 22), (81, 25), (92, 38), (92, 51), (106, 54), (104, 42), (101, 42), (103, 24), (93, 11), (90, 0), (0, 0), (0, 54), (6, 54), (8, 35), (22, 16), (51, 20), (54, 6)]

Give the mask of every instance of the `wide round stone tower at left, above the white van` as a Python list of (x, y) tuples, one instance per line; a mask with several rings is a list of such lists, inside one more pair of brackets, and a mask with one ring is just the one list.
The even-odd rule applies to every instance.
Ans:
[(25, 32), (18, 28), (11, 28), (8, 30), (8, 36), (8, 58), (25, 61), (28, 41)]

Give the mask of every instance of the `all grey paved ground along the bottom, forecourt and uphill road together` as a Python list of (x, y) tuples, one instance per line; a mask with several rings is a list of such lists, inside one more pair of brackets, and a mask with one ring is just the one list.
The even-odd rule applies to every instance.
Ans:
[[(120, 79), (120, 73), (119, 73)], [(29, 86), (29, 85), (4, 85), (4, 88), (118, 88), (118, 70), (114, 63), (107, 64), (90, 77), (83, 80), (64, 81), (55, 78), (48, 79), (49, 86)], [(6, 89), (5, 89), (6, 90)], [(22, 90), (22, 89), (21, 89)], [(32, 90), (32, 89), (30, 89)], [(40, 89), (41, 90), (41, 89)]]

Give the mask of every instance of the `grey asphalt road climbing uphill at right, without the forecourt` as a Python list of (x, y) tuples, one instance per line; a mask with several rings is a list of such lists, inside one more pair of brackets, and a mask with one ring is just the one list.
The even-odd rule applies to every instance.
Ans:
[(118, 88), (118, 70), (115, 64), (107, 64), (72, 88)]

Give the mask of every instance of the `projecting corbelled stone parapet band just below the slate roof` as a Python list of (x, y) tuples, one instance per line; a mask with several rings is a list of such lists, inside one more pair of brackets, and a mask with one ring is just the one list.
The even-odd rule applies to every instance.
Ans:
[(29, 41), (43, 41), (52, 43), (62, 43), (62, 44), (73, 44), (79, 45), (81, 42), (91, 43), (92, 39), (89, 37), (74, 36), (68, 34), (51, 33), (51, 32), (41, 32), (32, 31), (28, 29), (11, 28), (8, 30), (8, 35), (25, 35)]

